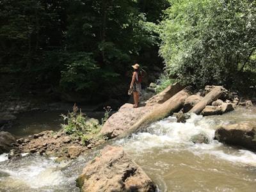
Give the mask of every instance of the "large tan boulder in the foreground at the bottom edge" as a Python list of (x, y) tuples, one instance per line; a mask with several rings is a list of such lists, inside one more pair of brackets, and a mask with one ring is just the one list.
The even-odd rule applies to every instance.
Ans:
[(156, 185), (122, 147), (108, 145), (76, 180), (81, 191), (156, 191)]

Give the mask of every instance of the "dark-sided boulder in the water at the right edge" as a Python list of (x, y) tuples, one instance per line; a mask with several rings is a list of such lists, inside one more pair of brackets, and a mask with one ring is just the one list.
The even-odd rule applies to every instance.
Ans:
[(220, 125), (215, 131), (215, 138), (221, 143), (256, 151), (256, 127), (248, 123)]

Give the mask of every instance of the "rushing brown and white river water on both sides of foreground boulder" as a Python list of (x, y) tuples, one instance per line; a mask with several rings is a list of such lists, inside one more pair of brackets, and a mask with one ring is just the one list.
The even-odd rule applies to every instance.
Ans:
[[(159, 191), (255, 191), (256, 154), (213, 140), (217, 125), (237, 122), (256, 124), (255, 109), (218, 116), (191, 115), (185, 124), (170, 116), (148, 126), (146, 132), (111, 145), (121, 145)], [(198, 133), (210, 143), (191, 142), (191, 136)], [(79, 191), (75, 180), (93, 153), (68, 163), (41, 156), (9, 162), (2, 155), (0, 191)]]

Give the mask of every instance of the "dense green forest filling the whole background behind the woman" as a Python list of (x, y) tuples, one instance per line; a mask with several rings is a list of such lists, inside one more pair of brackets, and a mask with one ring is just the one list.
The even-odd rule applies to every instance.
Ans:
[(160, 83), (256, 84), (253, 0), (3, 0), (0, 20), (1, 93), (100, 102), (134, 63)]

